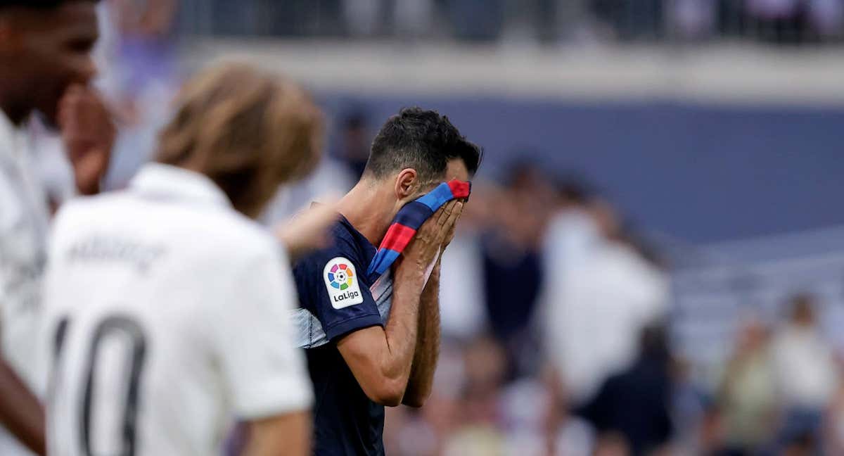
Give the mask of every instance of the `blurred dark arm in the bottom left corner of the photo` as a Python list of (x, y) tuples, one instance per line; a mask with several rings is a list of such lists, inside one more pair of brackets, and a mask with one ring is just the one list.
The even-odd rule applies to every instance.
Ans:
[(44, 409), (5, 360), (0, 359), (0, 424), (36, 454), (46, 454)]

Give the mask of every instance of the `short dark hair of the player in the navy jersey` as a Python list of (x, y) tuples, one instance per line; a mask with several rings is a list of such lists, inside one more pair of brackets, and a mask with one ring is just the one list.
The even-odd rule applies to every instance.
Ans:
[(435, 182), (449, 160), (460, 159), (470, 175), (478, 171), (483, 151), (460, 134), (448, 117), (419, 107), (403, 108), (387, 119), (372, 141), (364, 174), (376, 178), (412, 168), (422, 182)]

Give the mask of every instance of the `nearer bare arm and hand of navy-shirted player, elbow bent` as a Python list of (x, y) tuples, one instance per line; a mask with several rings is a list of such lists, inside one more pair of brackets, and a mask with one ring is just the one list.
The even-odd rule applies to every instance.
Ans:
[(440, 209), (422, 225), (394, 270), (392, 308), (385, 327), (360, 329), (337, 343), (360, 388), (376, 404), (395, 407), (408, 388), (425, 272), (457, 220), (457, 214), (441, 217), (444, 212)]

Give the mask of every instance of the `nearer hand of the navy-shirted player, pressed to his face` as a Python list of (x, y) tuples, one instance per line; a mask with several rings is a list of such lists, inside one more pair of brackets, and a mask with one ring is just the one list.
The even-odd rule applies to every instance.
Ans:
[[(462, 213), (463, 202), (455, 200), (446, 203), (431, 215), (419, 231), (416, 231), (413, 241), (404, 250), (398, 269), (402, 272), (409, 269), (413, 273), (424, 274), (444, 247), (446, 236), (449, 236), (449, 233), (453, 236), (454, 225)], [(451, 242), (451, 239), (448, 241)]]

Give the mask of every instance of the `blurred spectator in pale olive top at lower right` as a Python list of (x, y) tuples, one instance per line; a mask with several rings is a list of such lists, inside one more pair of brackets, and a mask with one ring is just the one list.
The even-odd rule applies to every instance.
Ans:
[(776, 420), (776, 385), (767, 328), (744, 325), (719, 388), (725, 456), (759, 452), (771, 442)]

